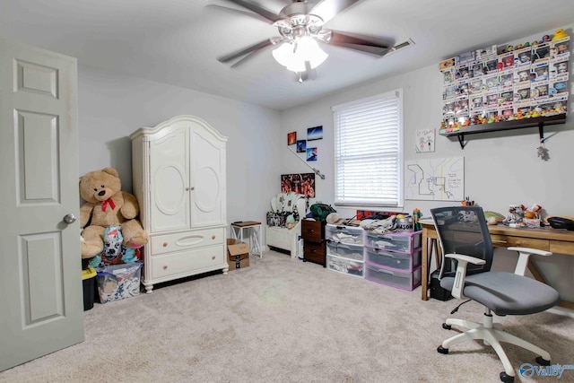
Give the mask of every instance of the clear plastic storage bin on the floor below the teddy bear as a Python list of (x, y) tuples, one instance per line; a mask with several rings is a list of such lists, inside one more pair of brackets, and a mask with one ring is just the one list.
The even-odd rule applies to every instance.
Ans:
[(98, 267), (96, 282), (100, 303), (123, 300), (140, 294), (142, 263)]

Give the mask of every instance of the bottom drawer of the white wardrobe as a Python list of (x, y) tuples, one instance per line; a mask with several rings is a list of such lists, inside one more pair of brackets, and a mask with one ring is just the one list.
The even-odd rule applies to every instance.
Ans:
[[(177, 274), (198, 274), (202, 269), (213, 270), (214, 266), (226, 263), (223, 245), (198, 248), (191, 251), (164, 254), (146, 258), (147, 276), (150, 279)], [(151, 273), (151, 276), (149, 275)]]

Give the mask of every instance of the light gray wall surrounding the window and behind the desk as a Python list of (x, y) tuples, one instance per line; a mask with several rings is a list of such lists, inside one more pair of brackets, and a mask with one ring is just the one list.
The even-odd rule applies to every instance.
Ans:
[[(574, 24), (567, 26), (572, 30)], [(555, 30), (555, 29), (554, 29)], [(531, 36), (517, 42), (539, 39), (540, 35)], [(510, 42), (517, 44), (517, 42)], [(570, 45), (570, 48), (572, 46)], [(574, 59), (570, 58), (570, 63)], [(385, 64), (384, 57), (381, 65)], [(320, 76), (320, 66), (317, 75)], [(360, 70), (360, 68), (358, 68)], [(570, 73), (570, 88), (574, 75)], [(283, 145), (280, 150), (281, 172), (308, 171), (301, 161), (294, 158), (286, 145), (287, 134), (296, 131), (299, 139), (307, 135), (307, 128), (323, 126), (323, 140), (311, 142), (318, 148), (317, 161), (312, 165), (326, 174), (326, 179), (317, 179), (317, 201), (326, 204), (334, 203), (334, 160), (333, 160), (333, 113), (331, 107), (344, 102), (359, 100), (396, 89), (404, 91), (404, 160), (411, 161), (424, 158), (465, 157), (465, 196), (470, 196), (484, 210), (502, 214), (508, 213), (509, 205), (524, 204), (542, 205), (547, 215), (574, 216), (572, 190), (572, 147), (574, 145), (574, 96), (570, 91), (570, 112), (567, 123), (547, 126), (544, 129), (550, 159), (542, 161), (536, 152), (540, 145), (538, 128), (531, 127), (517, 131), (494, 132), (481, 135), (466, 135), (468, 144), (462, 150), (458, 141), (449, 140), (438, 134), (442, 113), (442, 79), (437, 65), (423, 67), (417, 71), (398, 75), (393, 78), (364, 84), (351, 90), (342, 91), (308, 105), (283, 110), (281, 128)], [(309, 83), (309, 85), (311, 85)], [(414, 150), (415, 131), (418, 129), (437, 128), (435, 152), (417, 153)], [(304, 158), (301, 156), (301, 158)], [(413, 208), (421, 209), (424, 216), (429, 216), (429, 209), (451, 203), (406, 200), (405, 212)], [(337, 208), (342, 217), (352, 217), (353, 209)], [(377, 210), (377, 209), (372, 209)], [(381, 208), (379, 210), (402, 210)], [(498, 252), (506, 250), (500, 249)], [(510, 258), (510, 257), (505, 257)], [(501, 268), (508, 268), (503, 262)], [(543, 274), (552, 278), (552, 284), (561, 292), (563, 299), (574, 301), (574, 258), (556, 255), (552, 262), (539, 264)]]

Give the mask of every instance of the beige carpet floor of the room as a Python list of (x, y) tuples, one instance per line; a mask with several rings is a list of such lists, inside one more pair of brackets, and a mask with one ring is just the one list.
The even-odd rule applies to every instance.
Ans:
[[(228, 275), (164, 285), (95, 304), (85, 342), (0, 372), (0, 382), (497, 382), (491, 348), (469, 342), (439, 354), (456, 300), (421, 300), (276, 253)], [(471, 302), (452, 317), (482, 320)], [(574, 363), (574, 318), (544, 312), (500, 318), (505, 328)], [(515, 369), (533, 353), (505, 347)], [(573, 382), (561, 379), (515, 381)]]

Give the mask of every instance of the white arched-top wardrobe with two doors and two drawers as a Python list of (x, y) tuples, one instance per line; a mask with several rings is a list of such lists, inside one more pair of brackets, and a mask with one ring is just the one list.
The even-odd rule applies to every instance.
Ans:
[(222, 269), (227, 274), (225, 146), (201, 118), (178, 116), (130, 135), (134, 195), (150, 241), (145, 290)]

